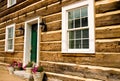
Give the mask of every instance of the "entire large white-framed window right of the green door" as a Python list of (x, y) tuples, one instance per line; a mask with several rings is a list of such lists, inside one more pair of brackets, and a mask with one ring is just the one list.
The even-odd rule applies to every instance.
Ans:
[(94, 0), (62, 7), (62, 52), (94, 53)]

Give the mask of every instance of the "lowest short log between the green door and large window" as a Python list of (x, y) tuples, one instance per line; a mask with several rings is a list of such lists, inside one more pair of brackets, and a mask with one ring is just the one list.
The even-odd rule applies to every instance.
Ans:
[(41, 43), (41, 51), (60, 51), (61, 44), (60, 43)]

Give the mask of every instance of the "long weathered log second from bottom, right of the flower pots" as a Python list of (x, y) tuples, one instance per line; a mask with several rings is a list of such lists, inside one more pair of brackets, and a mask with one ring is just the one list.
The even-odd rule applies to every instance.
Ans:
[(103, 81), (120, 81), (120, 69), (72, 63), (41, 61), (45, 71), (65, 75), (92, 78)]

